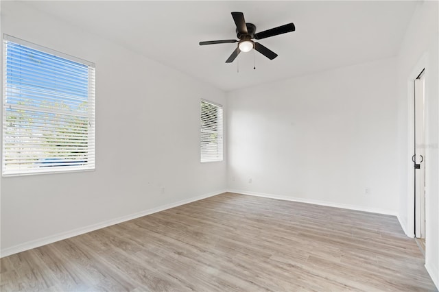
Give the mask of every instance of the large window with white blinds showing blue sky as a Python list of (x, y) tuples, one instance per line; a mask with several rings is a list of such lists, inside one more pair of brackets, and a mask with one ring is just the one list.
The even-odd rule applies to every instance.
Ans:
[(95, 64), (5, 35), (3, 175), (95, 169)]

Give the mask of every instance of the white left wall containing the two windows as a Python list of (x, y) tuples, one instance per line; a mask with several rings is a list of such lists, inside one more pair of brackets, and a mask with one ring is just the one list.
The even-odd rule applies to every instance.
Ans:
[(1, 178), (2, 256), (226, 189), (226, 162), (199, 150), (200, 99), (226, 106), (224, 92), (16, 1), (1, 1), (1, 33), (97, 76), (96, 170)]

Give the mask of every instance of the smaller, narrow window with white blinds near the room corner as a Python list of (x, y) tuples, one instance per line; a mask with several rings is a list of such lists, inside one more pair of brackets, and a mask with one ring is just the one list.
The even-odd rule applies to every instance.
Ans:
[(222, 106), (201, 101), (201, 162), (222, 161)]

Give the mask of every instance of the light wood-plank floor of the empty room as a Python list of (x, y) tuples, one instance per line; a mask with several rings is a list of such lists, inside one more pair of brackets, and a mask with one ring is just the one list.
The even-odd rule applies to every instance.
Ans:
[(233, 193), (0, 261), (1, 291), (436, 291), (396, 217)]

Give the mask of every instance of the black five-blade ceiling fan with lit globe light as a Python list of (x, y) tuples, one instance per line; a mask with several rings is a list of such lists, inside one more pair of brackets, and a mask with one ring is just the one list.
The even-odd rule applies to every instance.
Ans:
[(230, 57), (228, 57), (226, 63), (233, 62), (241, 51), (246, 53), (252, 49), (259, 51), (259, 53), (263, 54), (263, 56), (273, 60), (277, 57), (277, 54), (267, 47), (264, 47), (259, 42), (252, 41), (252, 39), (261, 40), (263, 38), (269, 38), (270, 36), (277, 36), (278, 34), (294, 32), (296, 29), (296, 27), (294, 27), (294, 23), (288, 23), (286, 25), (281, 25), (279, 27), (274, 27), (272, 29), (267, 29), (263, 32), (256, 33), (256, 25), (246, 23), (244, 14), (242, 12), (232, 12), (232, 17), (236, 24), (237, 38), (239, 38), (239, 40), (209, 40), (206, 42), (200, 42), (200, 46), (238, 42), (237, 48), (233, 51)]

